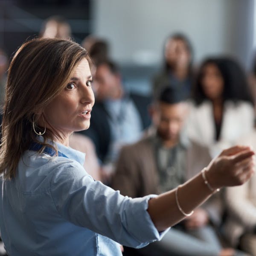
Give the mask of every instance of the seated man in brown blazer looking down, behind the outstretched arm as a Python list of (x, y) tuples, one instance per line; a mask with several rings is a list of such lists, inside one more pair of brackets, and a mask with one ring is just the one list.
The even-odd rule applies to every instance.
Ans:
[[(182, 128), (189, 105), (183, 94), (166, 87), (151, 108), (153, 126), (145, 137), (122, 148), (112, 187), (132, 198), (174, 189), (211, 159), (207, 149), (189, 141)], [(145, 255), (219, 255), (222, 250), (211, 224), (220, 224), (221, 201), (215, 194), (159, 242), (140, 249)], [(186, 246), (184, 246), (186, 245)], [(126, 248), (125, 250), (129, 250)], [(233, 255), (233, 250), (228, 249)], [(220, 254), (222, 255), (222, 254)], [(224, 254), (223, 254), (224, 255)]]

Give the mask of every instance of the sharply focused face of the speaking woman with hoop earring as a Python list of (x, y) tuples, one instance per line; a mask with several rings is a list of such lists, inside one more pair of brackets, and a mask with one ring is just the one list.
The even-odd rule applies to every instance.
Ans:
[(90, 67), (84, 58), (74, 69), (62, 92), (43, 111), (46, 127), (58, 137), (66, 138), (73, 131), (89, 128), (90, 112), (94, 105), (91, 84)]

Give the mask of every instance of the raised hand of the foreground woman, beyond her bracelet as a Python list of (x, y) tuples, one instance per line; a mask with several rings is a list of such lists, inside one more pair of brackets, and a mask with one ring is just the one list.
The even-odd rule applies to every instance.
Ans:
[(250, 147), (228, 148), (212, 160), (205, 172), (213, 189), (223, 186), (238, 186), (246, 182), (254, 173), (254, 151)]

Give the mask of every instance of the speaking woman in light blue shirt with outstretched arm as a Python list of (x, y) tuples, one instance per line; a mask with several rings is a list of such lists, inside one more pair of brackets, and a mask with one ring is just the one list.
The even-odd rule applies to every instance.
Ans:
[(0, 231), (9, 255), (121, 255), (117, 242), (159, 240), (216, 189), (253, 173), (254, 152), (236, 146), (160, 196), (131, 199), (94, 181), (84, 155), (68, 147), (70, 134), (90, 125), (89, 63), (76, 43), (35, 39), (10, 64), (0, 149)]

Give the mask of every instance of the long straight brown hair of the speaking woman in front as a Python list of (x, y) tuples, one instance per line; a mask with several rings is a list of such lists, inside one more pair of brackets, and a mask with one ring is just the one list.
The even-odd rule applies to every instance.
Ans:
[[(15, 177), (20, 157), (31, 143), (38, 142), (33, 120), (37, 123), (45, 106), (61, 92), (83, 58), (90, 64), (84, 48), (61, 39), (33, 39), (17, 50), (9, 67), (3, 107), (0, 174), (5, 179)], [(39, 126), (36, 129), (44, 131)], [(47, 130), (44, 141), (52, 138)]]

